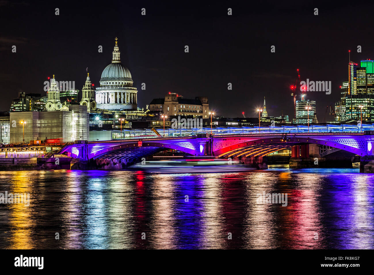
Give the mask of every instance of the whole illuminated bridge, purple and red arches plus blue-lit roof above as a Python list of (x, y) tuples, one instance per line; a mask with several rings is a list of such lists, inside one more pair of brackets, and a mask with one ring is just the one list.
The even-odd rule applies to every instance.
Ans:
[(316, 144), (341, 149), (369, 160), (374, 155), (373, 125), (363, 126), (364, 132), (352, 125), (327, 125), (324, 128), (313, 126), (313, 132), (311, 128), (310, 132), (307, 132), (307, 127), (300, 125), (289, 128), (289, 131), (285, 131), (286, 127), (270, 127), (249, 134), (244, 133), (244, 129), (240, 132), (237, 128), (230, 128), (225, 129), (225, 132), (234, 132), (233, 134), (217, 131), (213, 136), (210, 136), (210, 133), (199, 134), (199, 129), (196, 129), (196, 135), (193, 136), (143, 136), (110, 141), (78, 141), (81, 143), (68, 144), (56, 154), (95, 163), (99, 168), (108, 168), (108, 164), (118, 164), (116, 168), (124, 168), (167, 149), (179, 150), (193, 156), (227, 159), (258, 158), (292, 147), (292, 157), (299, 157), (301, 149), (301, 158), (309, 158), (309, 144)]

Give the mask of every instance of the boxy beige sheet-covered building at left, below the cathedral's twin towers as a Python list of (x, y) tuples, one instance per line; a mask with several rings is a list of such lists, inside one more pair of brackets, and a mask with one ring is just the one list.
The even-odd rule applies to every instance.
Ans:
[(63, 142), (89, 139), (86, 106), (72, 105), (69, 111), (11, 112), (10, 143), (61, 138)]

